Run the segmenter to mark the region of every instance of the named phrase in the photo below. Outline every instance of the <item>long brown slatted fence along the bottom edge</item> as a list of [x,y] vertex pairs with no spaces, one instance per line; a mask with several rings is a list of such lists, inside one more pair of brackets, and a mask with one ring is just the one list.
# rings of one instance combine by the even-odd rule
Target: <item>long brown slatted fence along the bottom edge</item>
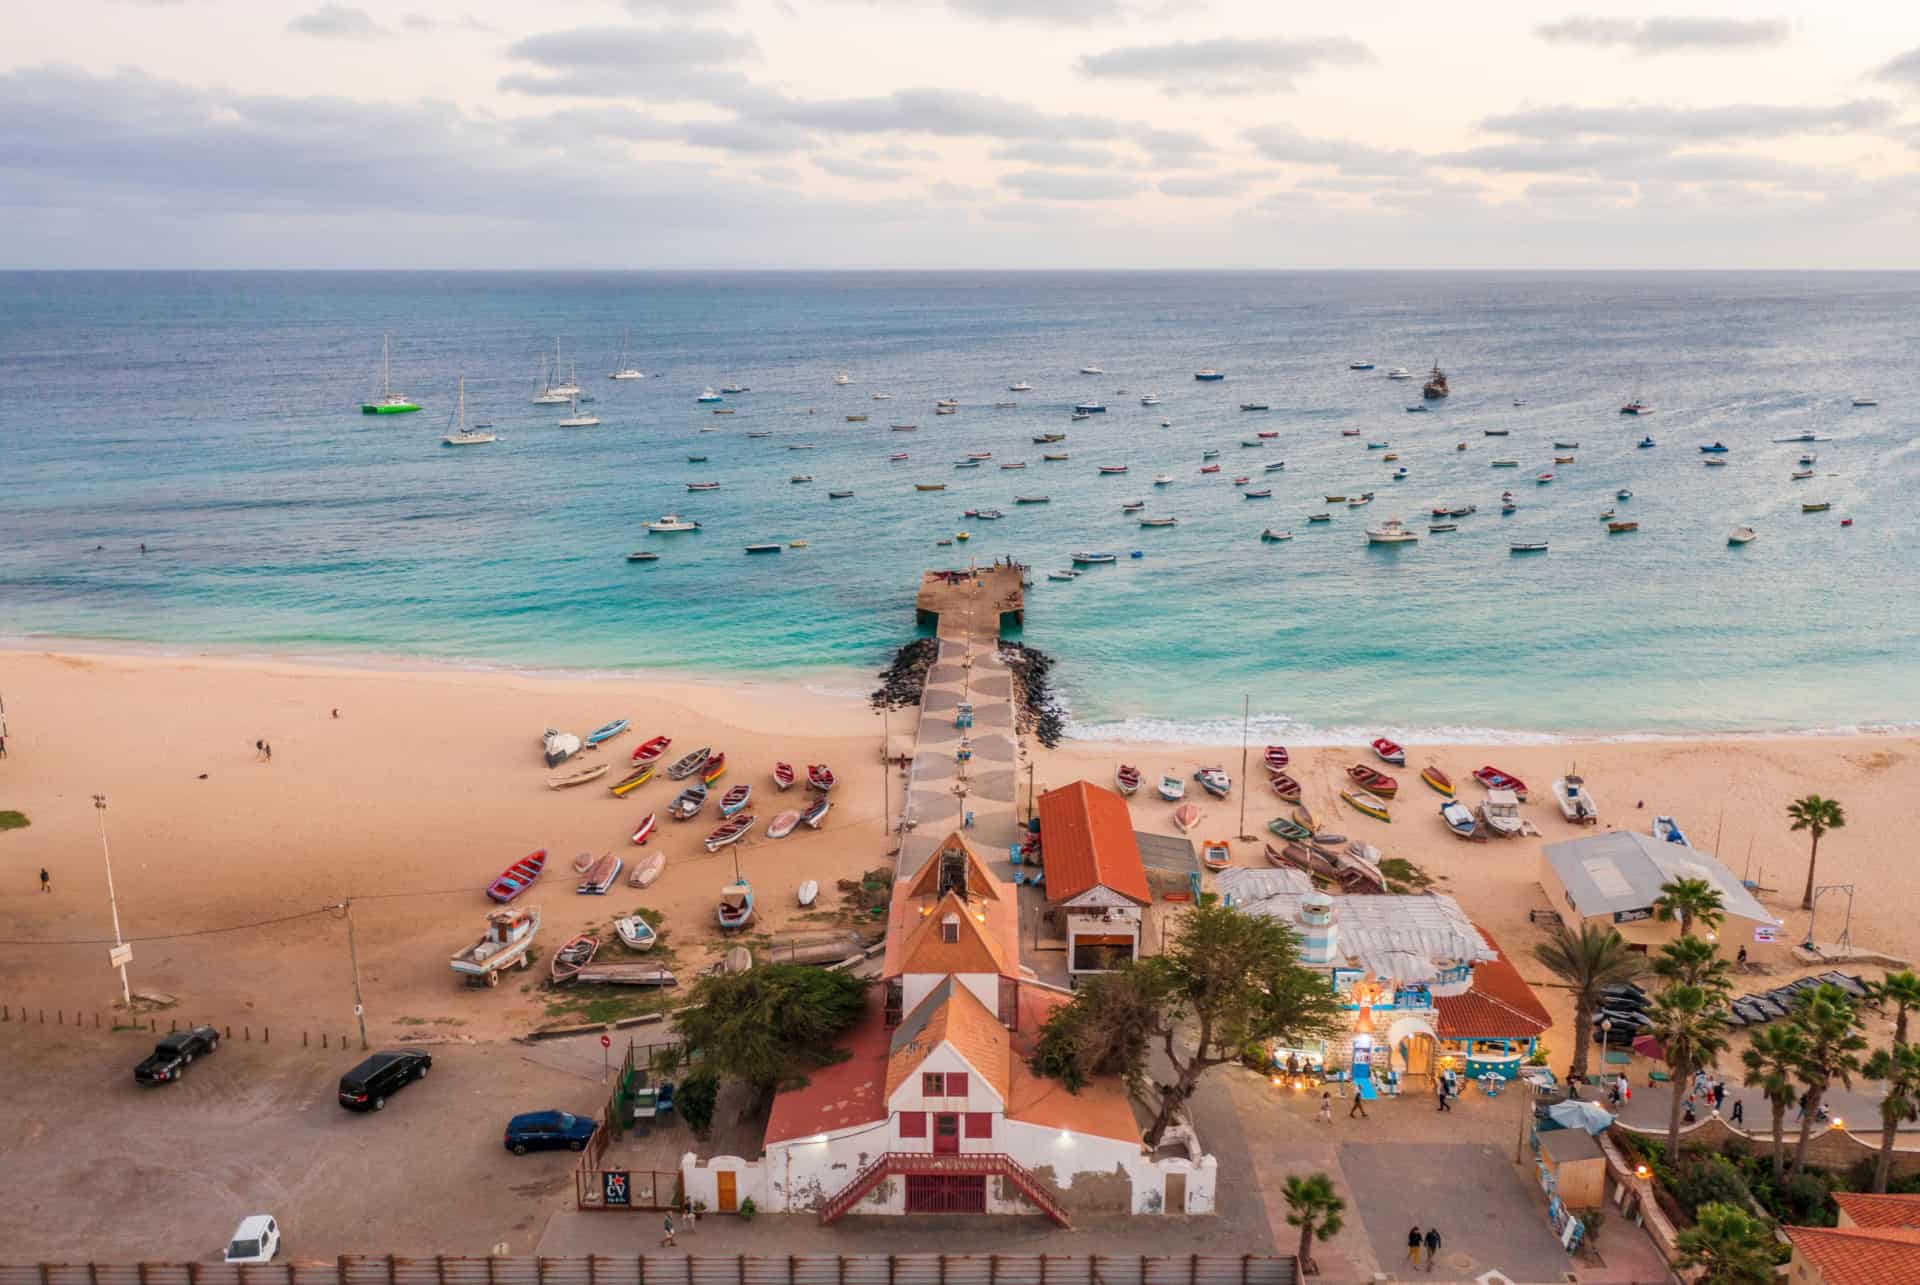
[[1277,1254],[396,1258],[0,1264],[0,1285],[1296,1285]]

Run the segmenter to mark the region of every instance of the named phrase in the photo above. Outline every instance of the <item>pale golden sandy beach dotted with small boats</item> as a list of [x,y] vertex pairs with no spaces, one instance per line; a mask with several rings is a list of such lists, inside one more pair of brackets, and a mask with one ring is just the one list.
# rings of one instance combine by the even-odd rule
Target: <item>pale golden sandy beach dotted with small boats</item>
[[[614,716],[634,732],[607,745],[626,763],[647,736],[674,738],[674,753],[726,749],[722,786],[751,782],[756,830],[801,791],[772,788],[776,759],[831,763],[839,774],[833,812],[818,834],[804,828],[739,845],[753,880],[756,932],[845,926],[835,918],[835,884],[887,864],[883,812],[897,778],[881,764],[881,720],[856,697],[797,686],[695,684],[647,678],[545,678],[511,672],[419,668],[372,672],[244,659],[182,659],[108,653],[13,651],[0,655],[12,736],[0,763],[0,809],[27,812],[31,826],[0,834],[0,991],[19,1003],[108,1008],[119,997],[102,939],[111,939],[100,834],[90,795],[109,797],[109,839],[121,924],[134,939],[132,985],[180,1001],[179,1012],[228,1022],[342,1030],[351,1022],[351,974],[338,916],[313,910],[355,897],[361,982],[371,1033],[419,1022],[457,1022],[461,1033],[516,1033],[547,1016],[541,974],[520,974],[497,991],[467,989],[447,957],[480,930],[490,903],[482,889],[513,859],[545,847],[555,864],[530,895],[543,907],[541,941],[603,928],[614,914],[649,907],[664,916],[666,945],[682,972],[724,949],[712,926],[718,887],[733,855],[707,855],[699,839],[716,822],[659,822],[647,849],[628,834],[678,789],[651,782],[614,799],[603,782],[545,788],[540,732],[584,732]],[[340,716],[334,718],[332,711]],[[895,738],[912,711],[893,716]],[[273,745],[273,763],[253,741]],[[1227,766],[1233,797],[1208,801],[1194,837],[1263,834],[1279,812],[1258,770],[1240,788],[1240,747],[1098,745],[1066,741],[1046,751],[1027,743],[1039,789],[1081,776],[1108,784],[1119,761],[1190,776],[1206,763]],[[1544,909],[1536,884],[1542,843],[1571,837],[1546,784],[1578,763],[1601,805],[1603,826],[1644,828],[1655,811],[1676,814],[1695,843],[1718,851],[1736,872],[1761,882],[1763,903],[1786,920],[1784,941],[1805,935],[1799,910],[1807,843],[1789,834],[1786,803],[1807,791],[1841,799],[1849,826],[1826,839],[1820,882],[1851,882],[1853,943],[1895,955],[1920,953],[1920,897],[1907,872],[1905,824],[1920,797],[1920,745],[1905,738],[1784,738],[1720,741],[1597,741],[1528,747],[1409,745],[1396,820],[1382,824],[1336,803],[1346,764],[1363,747],[1296,747],[1292,774],[1309,803],[1336,828],[1411,861],[1455,895],[1469,914],[1544,982],[1526,958],[1540,939],[1528,910]],[[1534,782],[1528,818],[1540,837],[1461,843],[1434,816],[1438,799],[1419,784],[1419,764],[1436,761],[1463,782],[1496,763]],[[1025,776],[1025,772],[1021,772]],[[1476,797],[1476,789],[1463,791]],[[1638,807],[1644,803],[1645,807]],[[1142,830],[1173,834],[1171,807],[1135,797]],[[626,885],[601,899],[572,891],[570,859],[580,851],[666,851],[651,889]],[[1240,864],[1263,864],[1261,839],[1235,843]],[[46,866],[54,893],[36,893]],[[795,889],[822,885],[822,907],[803,912]],[[1843,897],[1820,907],[1820,939],[1837,937]],[[298,916],[298,918],[296,918]],[[188,935],[200,933],[200,935]],[[142,941],[152,937],[167,937]],[[71,945],[23,945],[71,943]],[[612,947],[618,953],[618,947]],[[1732,949],[1732,943],[1730,943]],[[1786,945],[1755,947],[1755,962],[1793,970]],[[1542,999],[1563,1024],[1557,991]],[[1555,1056],[1555,1060],[1559,1060]]]

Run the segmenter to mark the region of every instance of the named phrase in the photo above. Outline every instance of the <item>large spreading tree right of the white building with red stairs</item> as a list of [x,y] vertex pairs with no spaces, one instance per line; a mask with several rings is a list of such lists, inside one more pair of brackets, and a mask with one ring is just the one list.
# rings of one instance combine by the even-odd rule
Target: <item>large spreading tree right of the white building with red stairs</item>
[[1181,918],[1162,955],[1083,985],[1056,1008],[1041,1028],[1033,1070],[1069,1089],[1096,1074],[1142,1085],[1148,1045],[1158,1043],[1173,1066],[1173,1083],[1146,1129],[1152,1149],[1202,1074],[1236,1062],[1250,1043],[1332,1035],[1344,1030],[1342,1018],[1327,978],[1300,964],[1286,924],[1202,905]]

